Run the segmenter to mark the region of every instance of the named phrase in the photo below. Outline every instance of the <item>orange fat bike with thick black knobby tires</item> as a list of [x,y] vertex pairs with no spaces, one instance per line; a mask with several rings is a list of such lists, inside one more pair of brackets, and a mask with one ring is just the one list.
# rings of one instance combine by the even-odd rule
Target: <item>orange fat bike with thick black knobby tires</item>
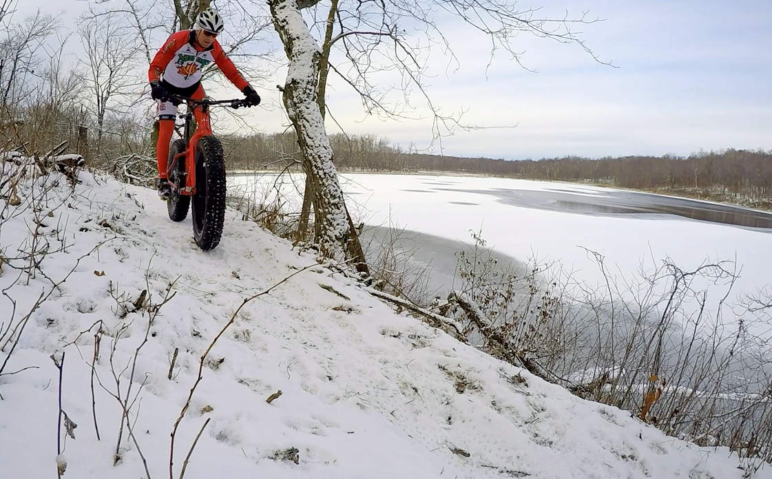
[[212,122],[208,115],[193,132],[193,110],[200,106],[204,113],[208,113],[213,105],[240,108],[252,104],[245,99],[194,100],[177,95],[170,98],[188,103],[188,111],[179,115],[185,118],[184,137],[174,140],[169,147],[166,172],[171,187],[167,203],[169,218],[171,221],[182,221],[191,209],[193,238],[199,248],[209,251],[219,244],[225,220],[225,157],[222,143],[212,134]]

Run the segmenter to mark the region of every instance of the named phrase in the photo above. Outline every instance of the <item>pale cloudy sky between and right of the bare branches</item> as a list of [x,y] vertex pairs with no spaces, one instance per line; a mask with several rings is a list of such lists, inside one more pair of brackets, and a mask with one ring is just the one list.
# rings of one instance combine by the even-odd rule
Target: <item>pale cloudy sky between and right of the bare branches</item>
[[[64,10],[64,19],[86,5],[56,2],[55,12],[47,0],[21,3],[24,10],[37,5],[52,13]],[[557,15],[567,9],[606,19],[587,25],[583,38],[618,68],[594,62],[576,46],[520,36],[527,50],[523,60],[538,73],[501,57],[486,75],[485,39],[456,22],[441,23],[461,68],[446,73],[445,59],[435,56],[436,76],[429,89],[435,103],[447,111],[466,110],[466,123],[517,124],[459,132],[443,140],[445,154],[535,159],[687,155],[730,147],[772,150],[770,0],[549,0],[532,5],[546,5],[547,13]],[[283,74],[279,69],[276,78],[256,85],[266,103],[278,104],[274,85]],[[349,133],[375,133],[403,147],[425,147],[431,141],[425,121],[365,117],[356,96],[340,83],[330,86],[328,104]],[[286,122],[278,108],[252,113],[251,119],[266,131]],[[328,130],[337,131],[337,126],[330,122]]]

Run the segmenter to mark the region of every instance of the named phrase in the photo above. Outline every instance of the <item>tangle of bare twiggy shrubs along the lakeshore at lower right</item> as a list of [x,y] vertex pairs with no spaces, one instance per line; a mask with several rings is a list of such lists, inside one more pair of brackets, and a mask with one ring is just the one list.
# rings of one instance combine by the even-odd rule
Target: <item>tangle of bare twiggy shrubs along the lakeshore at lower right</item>
[[469,342],[672,436],[728,446],[749,471],[772,461],[770,349],[748,329],[772,321],[764,296],[744,309],[729,304],[732,261],[686,270],[666,259],[638,278],[618,278],[588,250],[605,280],[590,288],[556,265],[501,272],[473,238],[443,309]]

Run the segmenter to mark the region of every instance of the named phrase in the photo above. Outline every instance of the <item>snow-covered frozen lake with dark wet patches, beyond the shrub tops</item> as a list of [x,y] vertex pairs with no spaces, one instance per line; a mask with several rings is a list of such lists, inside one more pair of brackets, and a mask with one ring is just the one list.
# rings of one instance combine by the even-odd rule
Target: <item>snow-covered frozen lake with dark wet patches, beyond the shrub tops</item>
[[[576,278],[600,282],[584,248],[604,255],[612,274],[651,270],[671,259],[683,269],[732,260],[740,278],[735,292],[770,284],[772,214],[705,201],[577,184],[494,177],[344,174],[351,214],[366,224],[416,231],[432,239],[422,258],[435,258],[438,276],[455,265],[459,241],[479,231],[496,251],[524,261],[560,261]],[[231,191],[256,197],[282,191],[300,210],[303,175],[230,177]],[[442,238],[448,242],[445,249]],[[415,241],[421,248],[421,241]],[[446,258],[440,259],[440,256]],[[449,256],[449,258],[447,258]]]

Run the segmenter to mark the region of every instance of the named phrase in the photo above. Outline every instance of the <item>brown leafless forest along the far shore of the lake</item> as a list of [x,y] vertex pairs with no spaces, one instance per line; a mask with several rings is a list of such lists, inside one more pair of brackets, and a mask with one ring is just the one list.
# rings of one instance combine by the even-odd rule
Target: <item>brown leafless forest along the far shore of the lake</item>
[[[373,135],[330,137],[340,171],[437,171],[527,180],[560,180],[672,192],[772,209],[772,151],[722,150],[689,157],[562,157],[541,160],[447,157],[408,153]],[[282,170],[299,160],[291,134],[231,137],[230,170]]]

